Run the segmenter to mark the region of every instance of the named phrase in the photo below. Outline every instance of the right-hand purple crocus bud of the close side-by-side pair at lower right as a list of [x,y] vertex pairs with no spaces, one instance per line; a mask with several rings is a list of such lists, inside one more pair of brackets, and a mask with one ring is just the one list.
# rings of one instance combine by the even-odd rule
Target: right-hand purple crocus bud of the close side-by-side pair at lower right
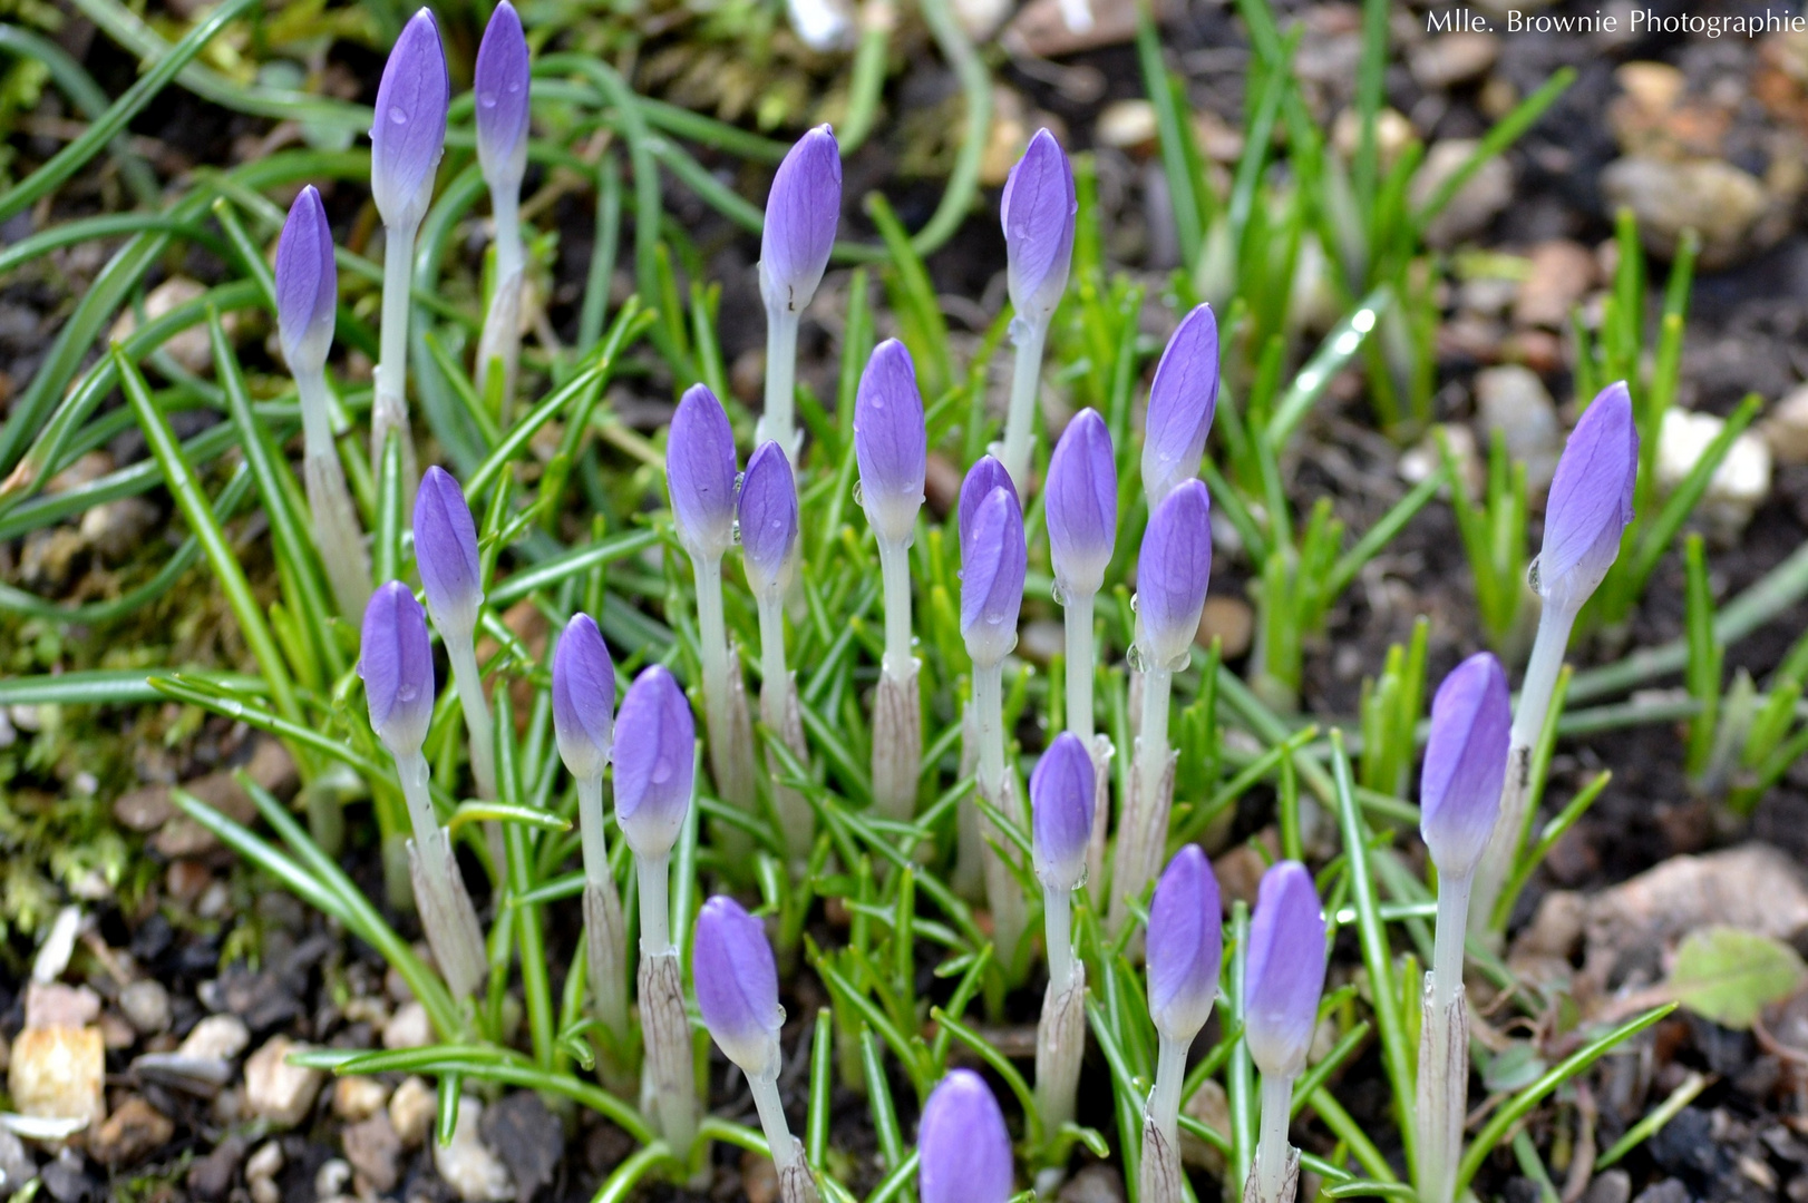
[[1244,1039],[1257,1069],[1287,1078],[1305,1068],[1325,990],[1325,916],[1313,874],[1284,860],[1262,874],[1244,965]]

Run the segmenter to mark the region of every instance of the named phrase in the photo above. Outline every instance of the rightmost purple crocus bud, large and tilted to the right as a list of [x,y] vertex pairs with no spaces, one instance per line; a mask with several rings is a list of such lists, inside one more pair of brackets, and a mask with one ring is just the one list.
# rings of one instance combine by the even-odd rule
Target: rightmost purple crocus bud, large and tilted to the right
[[1551,605],[1578,611],[1620,555],[1638,482],[1638,426],[1625,381],[1600,390],[1569,432],[1544,504],[1544,549],[1533,587]]

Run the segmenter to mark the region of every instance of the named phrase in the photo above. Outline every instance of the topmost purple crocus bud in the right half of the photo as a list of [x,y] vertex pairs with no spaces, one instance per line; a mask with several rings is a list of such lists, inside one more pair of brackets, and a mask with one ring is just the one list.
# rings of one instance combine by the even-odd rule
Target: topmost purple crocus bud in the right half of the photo
[[1036,130],[1029,150],[1005,177],[998,217],[1005,228],[1005,282],[1011,307],[1032,325],[1045,325],[1067,291],[1074,256],[1074,168],[1049,130]]

